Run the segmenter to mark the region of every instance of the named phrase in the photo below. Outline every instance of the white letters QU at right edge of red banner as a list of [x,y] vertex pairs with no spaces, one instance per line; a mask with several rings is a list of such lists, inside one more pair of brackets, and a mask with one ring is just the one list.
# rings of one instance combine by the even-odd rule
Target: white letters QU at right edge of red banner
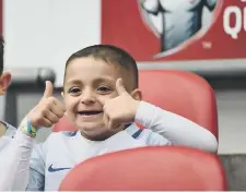
[[[241,1],[246,2],[246,0]],[[233,14],[235,15],[235,24],[232,26],[231,16]],[[223,28],[233,39],[238,38],[238,34],[242,29],[246,32],[246,8],[242,11],[241,8],[236,5],[227,7],[223,14]]]

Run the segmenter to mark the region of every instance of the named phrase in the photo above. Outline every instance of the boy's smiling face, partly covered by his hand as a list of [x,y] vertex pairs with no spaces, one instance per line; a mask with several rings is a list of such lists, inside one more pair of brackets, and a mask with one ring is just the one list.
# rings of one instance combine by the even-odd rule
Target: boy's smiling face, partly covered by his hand
[[120,70],[93,57],[70,61],[65,77],[67,116],[87,137],[114,134],[104,124],[104,103],[118,96],[116,81]]

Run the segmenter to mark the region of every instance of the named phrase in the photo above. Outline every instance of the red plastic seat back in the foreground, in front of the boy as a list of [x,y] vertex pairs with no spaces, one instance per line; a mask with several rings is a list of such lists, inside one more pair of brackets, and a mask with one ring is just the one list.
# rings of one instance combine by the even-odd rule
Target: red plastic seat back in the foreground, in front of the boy
[[186,147],[140,147],[81,163],[60,191],[223,191],[218,156]]

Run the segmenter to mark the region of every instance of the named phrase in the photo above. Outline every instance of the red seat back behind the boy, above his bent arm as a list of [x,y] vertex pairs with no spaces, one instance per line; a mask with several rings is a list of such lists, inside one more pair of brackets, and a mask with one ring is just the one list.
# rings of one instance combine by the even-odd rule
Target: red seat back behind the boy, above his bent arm
[[141,70],[139,87],[143,100],[192,120],[218,139],[215,95],[204,79],[178,70]]

